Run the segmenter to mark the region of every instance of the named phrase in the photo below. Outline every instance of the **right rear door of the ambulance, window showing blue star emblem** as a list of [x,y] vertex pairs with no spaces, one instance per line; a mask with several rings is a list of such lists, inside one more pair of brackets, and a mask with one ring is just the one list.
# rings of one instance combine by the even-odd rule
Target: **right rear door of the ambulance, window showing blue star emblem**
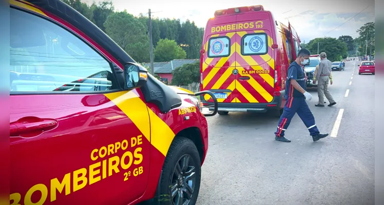
[[237,16],[236,102],[271,103],[274,92],[275,55],[272,49],[275,26],[270,12]]

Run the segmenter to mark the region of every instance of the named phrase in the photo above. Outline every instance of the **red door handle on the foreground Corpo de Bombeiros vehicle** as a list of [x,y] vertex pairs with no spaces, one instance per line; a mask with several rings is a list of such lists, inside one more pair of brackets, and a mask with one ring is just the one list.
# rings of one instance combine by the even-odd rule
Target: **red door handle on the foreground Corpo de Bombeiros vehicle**
[[57,127],[54,119],[41,119],[38,117],[21,118],[9,125],[10,136],[33,137]]

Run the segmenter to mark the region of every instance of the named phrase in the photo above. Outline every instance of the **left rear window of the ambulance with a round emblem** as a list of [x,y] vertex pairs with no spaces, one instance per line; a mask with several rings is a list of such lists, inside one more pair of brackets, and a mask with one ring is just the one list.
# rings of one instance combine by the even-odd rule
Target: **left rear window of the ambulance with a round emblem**
[[209,39],[208,57],[227,57],[229,53],[231,53],[231,39],[227,36]]

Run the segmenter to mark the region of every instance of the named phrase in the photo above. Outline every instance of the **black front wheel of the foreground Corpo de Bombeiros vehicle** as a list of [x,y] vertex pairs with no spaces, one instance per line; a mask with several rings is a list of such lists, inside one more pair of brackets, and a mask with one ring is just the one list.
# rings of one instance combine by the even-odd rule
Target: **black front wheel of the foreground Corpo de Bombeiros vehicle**
[[[185,168],[183,167],[183,160],[189,158],[189,166]],[[179,175],[176,175],[176,168],[179,167],[180,170],[184,171],[184,173],[179,172]],[[194,167],[192,170],[190,167]],[[194,176],[194,177],[192,177]],[[181,178],[184,177],[184,178]],[[190,187],[185,179],[194,180],[192,187]],[[161,205],[173,205],[178,204],[179,192],[180,190],[183,192],[184,198],[188,196],[186,193],[188,188],[192,190],[192,194],[188,199],[189,204],[195,204],[197,201],[197,197],[199,195],[200,189],[200,180],[201,180],[201,161],[199,152],[194,144],[188,138],[185,137],[177,137],[172,142],[167,156],[164,160],[163,165],[163,174],[161,176],[161,185],[160,185],[160,204]],[[190,182],[190,181],[188,181]],[[183,187],[181,187],[181,185]],[[172,198],[172,190],[175,190],[175,196]],[[183,199],[185,202],[185,199]]]

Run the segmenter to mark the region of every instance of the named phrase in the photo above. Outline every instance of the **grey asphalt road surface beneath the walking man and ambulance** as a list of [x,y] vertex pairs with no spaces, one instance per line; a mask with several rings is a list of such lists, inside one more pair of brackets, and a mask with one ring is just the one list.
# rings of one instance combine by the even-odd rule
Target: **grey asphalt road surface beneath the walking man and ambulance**
[[375,76],[358,75],[355,64],[333,72],[329,90],[337,105],[315,107],[317,90],[309,91],[321,133],[331,134],[343,109],[336,137],[313,142],[297,115],[285,132],[290,143],[274,140],[278,118],[269,113],[207,117],[197,204],[374,204]]

